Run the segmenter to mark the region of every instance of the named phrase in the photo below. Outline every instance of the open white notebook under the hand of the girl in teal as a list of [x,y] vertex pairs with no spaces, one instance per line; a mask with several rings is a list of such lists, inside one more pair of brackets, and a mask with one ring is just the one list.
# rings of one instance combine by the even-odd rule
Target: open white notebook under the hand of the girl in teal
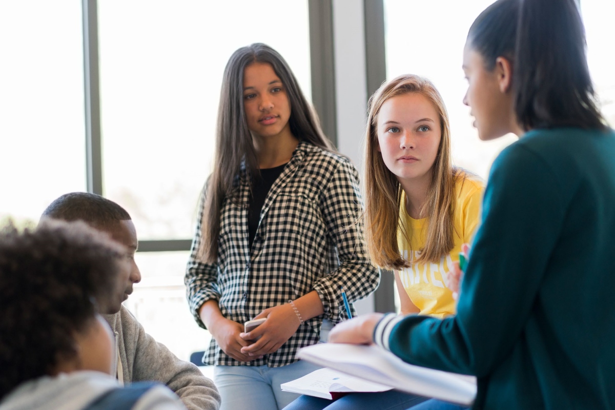
[[319,343],[300,349],[297,356],[402,392],[464,406],[476,397],[476,377],[410,365],[376,345]]

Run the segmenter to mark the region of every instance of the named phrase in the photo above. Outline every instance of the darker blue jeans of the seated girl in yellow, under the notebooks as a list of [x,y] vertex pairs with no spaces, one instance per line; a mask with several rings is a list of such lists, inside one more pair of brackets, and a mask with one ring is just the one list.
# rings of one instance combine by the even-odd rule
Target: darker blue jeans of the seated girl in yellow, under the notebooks
[[425,397],[389,390],[375,393],[351,393],[331,401],[313,396],[301,396],[284,410],[406,410],[427,400]]

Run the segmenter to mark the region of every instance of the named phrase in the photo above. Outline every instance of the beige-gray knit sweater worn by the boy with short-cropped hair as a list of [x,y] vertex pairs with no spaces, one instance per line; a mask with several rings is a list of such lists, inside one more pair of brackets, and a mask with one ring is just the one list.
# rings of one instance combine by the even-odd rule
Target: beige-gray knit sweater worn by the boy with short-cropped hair
[[[164,344],[145,333],[143,326],[125,310],[122,328],[128,363],[132,363],[132,381],[156,381],[167,385],[188,410],[217,410],[220,394],[213,381],[197,366],[178,359]],[[130,340],[132,339],[132,340]]]

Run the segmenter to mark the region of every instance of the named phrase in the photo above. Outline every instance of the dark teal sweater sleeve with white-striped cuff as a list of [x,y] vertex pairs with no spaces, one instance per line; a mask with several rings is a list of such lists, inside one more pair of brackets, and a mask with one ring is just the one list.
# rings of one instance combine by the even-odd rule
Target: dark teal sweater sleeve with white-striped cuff
[[489,374],[522,333],[565,215],[562,187],[544,160],[513,144],[496,159],[461,285],[458,314],[388,320],[391,352],[408,363]]

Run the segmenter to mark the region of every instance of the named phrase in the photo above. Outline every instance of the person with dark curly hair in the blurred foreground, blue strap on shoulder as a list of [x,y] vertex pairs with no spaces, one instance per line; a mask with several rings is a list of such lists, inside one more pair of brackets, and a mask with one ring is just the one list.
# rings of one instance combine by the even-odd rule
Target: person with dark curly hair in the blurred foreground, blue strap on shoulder
[[124,247],[84,223],[0,231],[0,409],[185,409],[163,385],[122,389],[111,376],[99,312],[129,274]]

